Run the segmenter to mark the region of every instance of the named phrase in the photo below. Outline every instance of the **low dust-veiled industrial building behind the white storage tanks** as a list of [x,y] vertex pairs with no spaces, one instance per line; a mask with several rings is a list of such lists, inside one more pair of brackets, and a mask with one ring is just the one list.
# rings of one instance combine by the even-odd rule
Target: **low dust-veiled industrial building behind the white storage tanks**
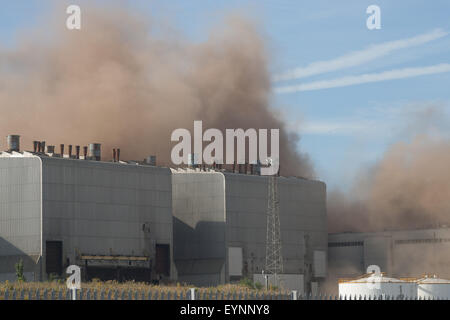
[[340,278],[365,274],[371,265],[395,278],[448,279],[450,228],[328,235],[328,291],[337,293]]

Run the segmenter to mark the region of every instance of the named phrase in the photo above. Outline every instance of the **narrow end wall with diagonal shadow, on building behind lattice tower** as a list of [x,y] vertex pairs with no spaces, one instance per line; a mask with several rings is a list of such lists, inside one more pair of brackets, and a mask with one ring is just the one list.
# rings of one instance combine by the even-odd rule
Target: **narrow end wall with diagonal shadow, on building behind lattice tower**
[[215,285],[225,279],[225,180],[218,172],[173,170],[174,260],[178,280]]

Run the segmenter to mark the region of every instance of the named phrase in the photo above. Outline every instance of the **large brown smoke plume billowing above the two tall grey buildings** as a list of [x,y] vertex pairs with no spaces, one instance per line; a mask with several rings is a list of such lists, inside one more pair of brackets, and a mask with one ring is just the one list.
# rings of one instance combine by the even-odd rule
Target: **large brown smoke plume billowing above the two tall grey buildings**
[[[202,43],[152,24],[125,7],[82,6],[82,30],[64,9],[40,33],[0,48],[1,135],[47,144],[99,142],[123,158],[170,164],[174,129],[279,128],[283,174],[313,175],[271,109],[268,53],[258,28],[232,17]],[[51,39],[48,35],[52,35]]]

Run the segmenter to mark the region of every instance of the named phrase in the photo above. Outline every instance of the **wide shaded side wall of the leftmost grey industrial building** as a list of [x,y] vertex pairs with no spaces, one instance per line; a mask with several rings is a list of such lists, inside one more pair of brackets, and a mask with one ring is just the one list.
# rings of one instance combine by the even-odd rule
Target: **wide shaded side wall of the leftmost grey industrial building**
[[169,169],[42,160],[43,241],[63,241],[64,261],[77,263],[78,253],[153,257],[156,243],[173,250]]

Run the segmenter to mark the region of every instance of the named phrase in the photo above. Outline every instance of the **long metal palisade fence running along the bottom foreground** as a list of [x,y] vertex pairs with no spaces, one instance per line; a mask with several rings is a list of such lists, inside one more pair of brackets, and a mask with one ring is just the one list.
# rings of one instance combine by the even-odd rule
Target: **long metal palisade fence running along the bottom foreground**
[[297,295],[292,293],[269,292],[207,292],[194,291],[162,291],[162,290],[98,290],[81,289],[76,292],[76,299],[72,299],[70,290],[29,290],[6,289],[0,290],[0,300],[441,300],[429,297],[405,297],[405,296],[337,296],[337,295]]

